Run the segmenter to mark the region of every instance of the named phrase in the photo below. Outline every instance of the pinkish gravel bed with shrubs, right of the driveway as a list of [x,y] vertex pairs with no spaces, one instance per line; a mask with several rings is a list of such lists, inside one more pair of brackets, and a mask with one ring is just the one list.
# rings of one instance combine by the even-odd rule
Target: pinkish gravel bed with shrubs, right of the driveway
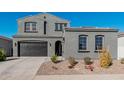
[[76,60],[70,57],[66,60],[58,60],[55,55],[51,61],[44,62],[37,75],[80,75],[80,74],[124,74],[124,59],[113,60],[107,49],[103,49],[99,59],[90,57]]

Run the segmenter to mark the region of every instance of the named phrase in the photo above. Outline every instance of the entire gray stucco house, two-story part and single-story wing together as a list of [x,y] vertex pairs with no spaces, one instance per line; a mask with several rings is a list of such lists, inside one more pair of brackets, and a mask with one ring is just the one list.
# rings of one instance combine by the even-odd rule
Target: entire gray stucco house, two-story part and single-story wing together
[[43,13],[18,19],[13,36],[14,56],[64,56],[98,58],[98,50],[109,48],[117,58],[117,29],[70,27],[70,22]]

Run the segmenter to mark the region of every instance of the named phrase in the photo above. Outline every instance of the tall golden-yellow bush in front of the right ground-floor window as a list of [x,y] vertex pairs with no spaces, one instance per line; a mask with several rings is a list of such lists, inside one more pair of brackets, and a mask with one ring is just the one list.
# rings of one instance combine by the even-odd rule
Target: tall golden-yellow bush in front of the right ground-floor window
[[107,49],[102,49],[100,53],[100,66],[103,68],[108,68],[112,64],[112,58]]

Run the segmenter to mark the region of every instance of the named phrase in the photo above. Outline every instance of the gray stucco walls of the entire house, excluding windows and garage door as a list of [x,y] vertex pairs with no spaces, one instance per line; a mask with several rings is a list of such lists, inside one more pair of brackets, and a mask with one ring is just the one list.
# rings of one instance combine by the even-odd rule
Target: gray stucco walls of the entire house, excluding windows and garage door
[[[46,34],[44,34],[44,21],[47,22]],[[25,22],[37,22],[37,32],[25,32]],[[55,30],[55,23],[66,23],[67,27],[63,31]],[[47,42],[47,56],[55,54],[55,44],[61,41],[62,56],[68,58],[98,58],[98,52],[95,52],[95,35],[104,35],[104,47],[109,48],[112,58],[117,58],[117,29],[109,28],[71,28],[70,22],[65,19],[43,13],[35,16],[28,16],[18,19],[18,32],[13,36],[13,55],[18,56],[18,42],[33,41]],[[79,35],[87,35],[87,51],[79,51]]]

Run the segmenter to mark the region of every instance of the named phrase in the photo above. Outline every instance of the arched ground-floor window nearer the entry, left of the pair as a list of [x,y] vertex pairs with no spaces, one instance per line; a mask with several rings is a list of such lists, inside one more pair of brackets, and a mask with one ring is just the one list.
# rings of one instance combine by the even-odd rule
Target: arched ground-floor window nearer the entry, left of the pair
[[87,49],[87,35],[79,36],[79,50]]

